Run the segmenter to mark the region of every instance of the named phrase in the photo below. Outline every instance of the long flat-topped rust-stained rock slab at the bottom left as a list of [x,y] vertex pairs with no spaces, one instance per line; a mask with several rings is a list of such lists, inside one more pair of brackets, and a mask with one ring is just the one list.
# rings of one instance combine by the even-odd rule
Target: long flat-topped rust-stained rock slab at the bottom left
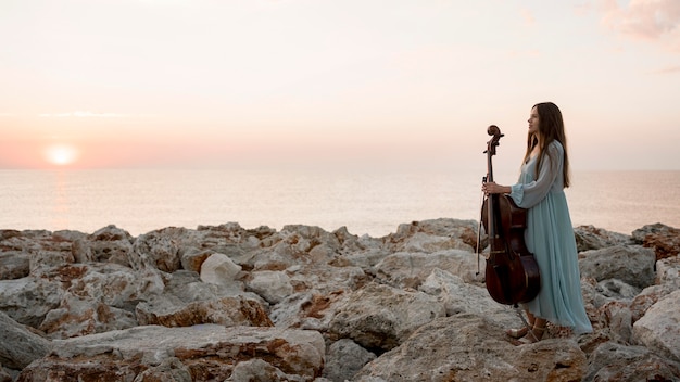
[[[324,339],[318,332],[277,328],[137,327],[68,340],[54,340],[49,356],[34,361],[21,374],[23,382],[42,382],[48,375],[74,380],[133,380],[163,365],[186,369],[192,381],[224,381],[242,361],[262,359],[284,372],[312,381],[324,365]],[[176,358],[179,367],[168,358]]]

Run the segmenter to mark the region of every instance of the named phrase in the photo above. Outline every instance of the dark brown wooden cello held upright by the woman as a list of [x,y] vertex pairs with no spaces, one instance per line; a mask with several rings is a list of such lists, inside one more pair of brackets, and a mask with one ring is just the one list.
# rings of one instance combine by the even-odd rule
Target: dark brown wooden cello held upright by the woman
[[[504,135],[491,125],[487,132],[492,138],[487,142],[487,177],[493,181],[491,157],[495,155],[499,140]],[[505,194],[486,196],[480,225],[489,238],[489,257],[486,266],[487,291],[495,302],[505,305],[528,303],[539,293],[541,278],[539,266],[524,240],[527,228],[527,211],[520,208]],[[479,246],[478,246],[479,251]]]

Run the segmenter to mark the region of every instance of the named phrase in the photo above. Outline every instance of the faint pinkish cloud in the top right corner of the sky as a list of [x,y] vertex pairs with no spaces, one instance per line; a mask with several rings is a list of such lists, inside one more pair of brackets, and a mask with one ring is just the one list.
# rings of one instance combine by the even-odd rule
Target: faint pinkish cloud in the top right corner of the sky
[[602,5],[608,28],[680,53],[680,1],[630,0],[620,7],[617,0],[604,0]]

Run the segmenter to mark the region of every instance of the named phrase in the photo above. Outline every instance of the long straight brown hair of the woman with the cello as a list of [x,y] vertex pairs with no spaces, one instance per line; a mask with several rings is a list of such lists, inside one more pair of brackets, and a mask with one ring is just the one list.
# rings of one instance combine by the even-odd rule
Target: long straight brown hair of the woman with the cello
[[[539,157],[536,166],[537,177],[538,171],[541,168],[541,162],[543,155],[550,153],[545,150],[553,141],[562,143],[564,148],[564,167],[562,169],[562,178],[564,187],[567,188],[570,184],[569,181],[569,156],[567,155],[567,136],[564,130],[564,120],[562,119],[562,112],[556,104],[552,102],[541,102],[533,105],[539,113],[539,133],[541,135]],[[532,109],[533,109],[532,107]],[[527,137],[527,153],[525,154],[525,162],[531,155],[533,148],[539,144],[539,139],[536,133],[529,132]],[[555,162],[553,162],[555,163]]]

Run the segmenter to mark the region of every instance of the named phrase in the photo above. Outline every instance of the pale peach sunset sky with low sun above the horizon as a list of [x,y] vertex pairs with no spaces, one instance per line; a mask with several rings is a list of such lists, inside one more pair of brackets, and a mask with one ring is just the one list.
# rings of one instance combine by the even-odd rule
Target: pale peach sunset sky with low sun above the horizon
[[679,0],[2,0],[0,168],[680,169]]

